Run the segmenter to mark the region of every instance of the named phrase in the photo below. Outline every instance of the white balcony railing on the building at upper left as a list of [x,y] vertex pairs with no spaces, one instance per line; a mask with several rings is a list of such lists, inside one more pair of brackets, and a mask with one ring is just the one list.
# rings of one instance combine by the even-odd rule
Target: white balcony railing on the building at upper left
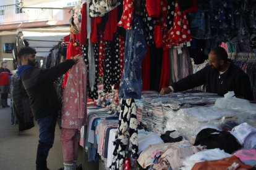
[[20,9],[19,6],[0,6],[0,25],[53,20],[53,9]]

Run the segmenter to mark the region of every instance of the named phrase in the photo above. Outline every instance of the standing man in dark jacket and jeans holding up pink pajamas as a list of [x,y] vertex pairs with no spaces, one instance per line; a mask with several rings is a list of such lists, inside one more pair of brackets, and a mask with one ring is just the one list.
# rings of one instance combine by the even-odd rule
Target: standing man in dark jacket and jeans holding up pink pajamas
[[49,149],[53,147],[54,131],[59,110],[54,79],[66,73],[79,59],[79,55],[48,69],[35,68],[36,51],[23,47],[18,53],[22,65],[17,76],[22,80],[30,100],[30,107],[39,126],[39,144],[36,153],[36,169],[46,170]]

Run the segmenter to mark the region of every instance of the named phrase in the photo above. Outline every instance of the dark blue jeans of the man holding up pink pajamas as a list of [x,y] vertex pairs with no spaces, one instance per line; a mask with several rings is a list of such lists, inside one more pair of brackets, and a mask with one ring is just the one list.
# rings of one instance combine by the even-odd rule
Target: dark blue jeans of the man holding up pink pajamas
[[47,156],[54,142],[54,132],[57,121],[57,114],[37,119],[39,126],[39,144],[36,153],[36,169],[47,169]]

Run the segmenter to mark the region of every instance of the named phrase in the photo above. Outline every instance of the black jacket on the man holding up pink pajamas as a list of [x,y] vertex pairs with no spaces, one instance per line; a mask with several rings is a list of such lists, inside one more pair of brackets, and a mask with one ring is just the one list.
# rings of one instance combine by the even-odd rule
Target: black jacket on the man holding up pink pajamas
[[74,64],[74,60],[66,60],[45,70],[33,67],[24,71],[22,83],[29,96],[30,107],[35,119],[57,114],[60,103],[53,81],[66,73]]

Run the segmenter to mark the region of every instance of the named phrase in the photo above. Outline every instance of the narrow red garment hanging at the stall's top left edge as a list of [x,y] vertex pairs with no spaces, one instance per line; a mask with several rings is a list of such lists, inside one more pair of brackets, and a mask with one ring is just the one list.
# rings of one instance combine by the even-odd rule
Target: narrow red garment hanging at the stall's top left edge
[[81,20],[81,28],[80,28],[80,34],[79,34],[79,42],[80,45],[85,45],[86,39],[87,39],[87,14],[86,14],[86,7],[87,3],[83,3],[81,14],[82,14],[82,20]]

